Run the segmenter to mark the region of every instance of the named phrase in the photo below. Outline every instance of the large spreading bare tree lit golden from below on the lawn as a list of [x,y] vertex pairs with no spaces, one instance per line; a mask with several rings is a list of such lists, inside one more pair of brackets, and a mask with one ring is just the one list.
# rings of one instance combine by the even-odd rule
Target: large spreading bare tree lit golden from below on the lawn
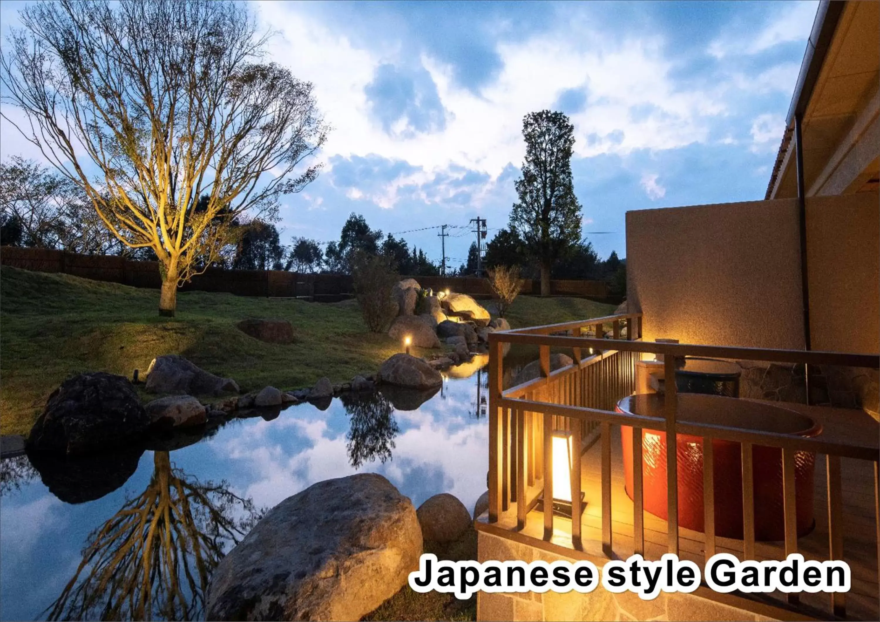
[[318,175],[303,165],[327,132],[312,84],[262,62],[268,35],[242,4],[61,0],[19,14],[3,101],[115,238],[156,253],[160,314],[236,216],[273,220],[279,196]]

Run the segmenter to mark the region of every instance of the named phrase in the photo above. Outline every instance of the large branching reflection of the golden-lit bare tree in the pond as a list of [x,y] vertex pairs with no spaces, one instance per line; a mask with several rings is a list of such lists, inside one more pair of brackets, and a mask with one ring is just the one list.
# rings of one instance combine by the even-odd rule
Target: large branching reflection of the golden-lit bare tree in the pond
[[167,451],[154,452],[153,461],[146,490],[89,534],[83,560],[49,607],[49,619],[202,616],[211,571],[259,514],[225,481],[187,478]]

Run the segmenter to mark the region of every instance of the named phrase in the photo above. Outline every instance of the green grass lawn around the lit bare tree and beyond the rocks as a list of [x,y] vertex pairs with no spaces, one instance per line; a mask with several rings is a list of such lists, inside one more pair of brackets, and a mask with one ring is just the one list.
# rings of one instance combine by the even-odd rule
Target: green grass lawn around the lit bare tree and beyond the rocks
[[[373,373],[400,344],[369,333],[353,301],[307,303],[208,292],[178,295],[176,318],[158,316],[158,290],[68,274],[0,269],[0,432],[26,435],[64,378],[105,370],[131,377],[158,355],[180,354],[242,391],[311,386]],[[514,327],[591,318],[612,305],[580,298],[521,296]],[[296,342],[268,344],[236,328],[245,318],[283,318]],[[425,354],[414,348],[413,354]]]

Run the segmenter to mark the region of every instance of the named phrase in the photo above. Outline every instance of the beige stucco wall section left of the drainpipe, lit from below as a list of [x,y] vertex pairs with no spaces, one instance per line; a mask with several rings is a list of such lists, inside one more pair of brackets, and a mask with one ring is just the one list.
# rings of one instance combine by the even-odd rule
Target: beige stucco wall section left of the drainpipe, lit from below
[[803,348],[796,199],[627,212],[646,340]]

